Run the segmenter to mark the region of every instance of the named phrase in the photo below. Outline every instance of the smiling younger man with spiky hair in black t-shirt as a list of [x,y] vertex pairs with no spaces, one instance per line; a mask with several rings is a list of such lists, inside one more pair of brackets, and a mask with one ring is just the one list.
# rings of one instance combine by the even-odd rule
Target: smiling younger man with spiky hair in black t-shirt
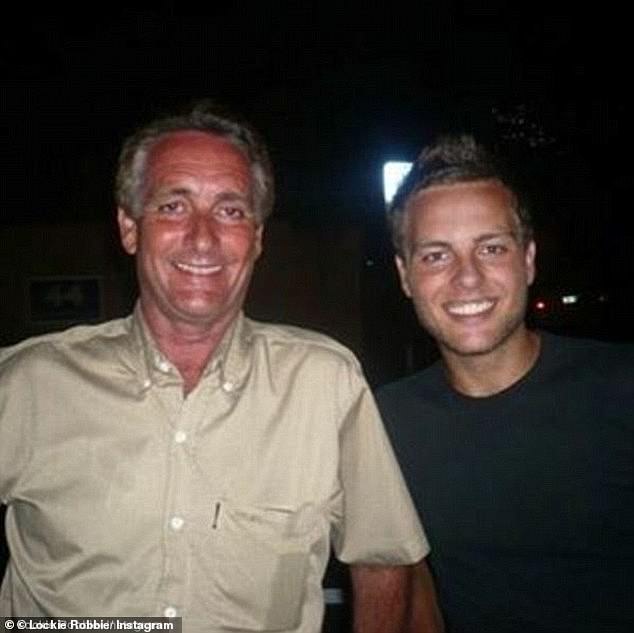
[[425,148],[389,219],[442,358],[379,403],[448,629],[631,631],[634,349],[526,327],[531,219],[473,138]]

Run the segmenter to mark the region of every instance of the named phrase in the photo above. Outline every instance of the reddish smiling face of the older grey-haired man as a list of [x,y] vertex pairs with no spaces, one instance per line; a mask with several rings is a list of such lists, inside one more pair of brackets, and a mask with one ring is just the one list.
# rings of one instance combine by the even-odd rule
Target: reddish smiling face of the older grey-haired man
[[154,329],[226,327],[242,308],[262,226],[251,169],[221,137],[169,134],[150,151],[138,219],[119,210],[136,254],[141,305]]

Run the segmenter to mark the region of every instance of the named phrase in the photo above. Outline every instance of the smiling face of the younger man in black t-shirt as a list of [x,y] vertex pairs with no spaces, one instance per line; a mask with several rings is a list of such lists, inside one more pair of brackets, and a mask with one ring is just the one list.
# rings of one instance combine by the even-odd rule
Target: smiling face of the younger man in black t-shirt
[[401,285],[445,357],[487,354],[523,335],[535,244],[514,197],[484,180],[430,187],[407,205]]

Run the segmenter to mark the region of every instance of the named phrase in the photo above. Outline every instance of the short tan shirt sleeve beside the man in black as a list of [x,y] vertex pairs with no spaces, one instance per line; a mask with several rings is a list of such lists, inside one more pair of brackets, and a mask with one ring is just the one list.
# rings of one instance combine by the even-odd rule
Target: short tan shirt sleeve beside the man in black
[[333,547],[349,564],[407,565],[429,551],[374,398],[360,369],[339,381],[343,514]]

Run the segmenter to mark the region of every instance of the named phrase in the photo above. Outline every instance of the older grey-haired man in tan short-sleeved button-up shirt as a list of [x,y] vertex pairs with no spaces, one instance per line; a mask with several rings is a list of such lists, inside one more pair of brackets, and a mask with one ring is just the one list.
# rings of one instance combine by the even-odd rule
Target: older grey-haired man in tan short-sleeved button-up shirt
[[357,629],[401,626],[427,545],[357,361],[241,312],[272,198],[256,133],[207,104],[125,143],[134,314],[3,353],[2,615],[315,632],[332,539]]

